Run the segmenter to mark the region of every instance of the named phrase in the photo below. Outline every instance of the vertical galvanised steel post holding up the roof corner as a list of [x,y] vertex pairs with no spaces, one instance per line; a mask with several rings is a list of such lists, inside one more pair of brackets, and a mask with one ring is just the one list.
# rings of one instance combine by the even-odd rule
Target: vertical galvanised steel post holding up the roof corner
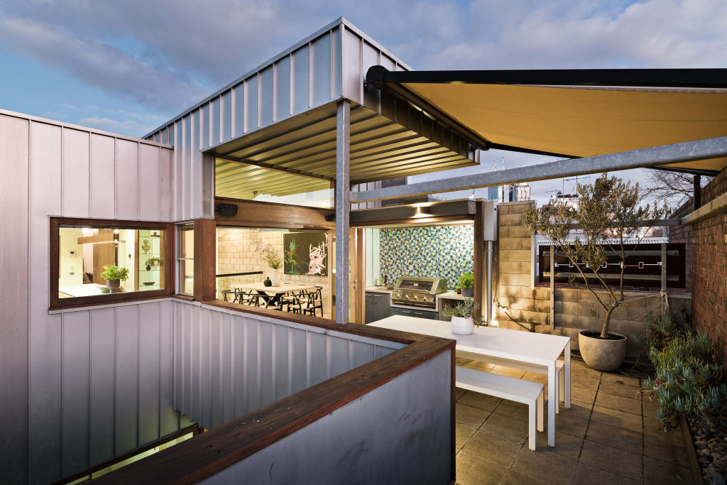
[[348,228],[350,197],[351,105],[341,100],[336,119],[336,323],[348,322]]

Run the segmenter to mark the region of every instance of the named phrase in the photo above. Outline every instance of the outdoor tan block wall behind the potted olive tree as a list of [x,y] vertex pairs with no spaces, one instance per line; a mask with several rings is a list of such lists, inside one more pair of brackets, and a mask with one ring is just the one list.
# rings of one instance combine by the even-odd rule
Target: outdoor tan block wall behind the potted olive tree
[[[505,308],[498,308],[495,318],[501,328],[566,335],[571,337],[571,348],[578,350],[579,332],[600,330],[606,312],[585,289],[556,288],[555,326],[551,328],[550,287],[534,286],[534,238],[523,220],[523,212],[533,204],[533,201],[520,201],[497,206],[499,269],[495,298]],[[727,283],[723,287],[727,288]],[[605,290],[598,294],[603,300],[610,299]],[[641,339],[646,332],[646,319],[649,312],[661,311],[661,296],[653,292],[625,294],[632,301],[614,310],[609,331],[627,335],[629,355],[635,356],[645,350]],[[670,310],[691,312],[691,295],[669,294],[668,298]],[[593,316],[593,310],[597,317]]]

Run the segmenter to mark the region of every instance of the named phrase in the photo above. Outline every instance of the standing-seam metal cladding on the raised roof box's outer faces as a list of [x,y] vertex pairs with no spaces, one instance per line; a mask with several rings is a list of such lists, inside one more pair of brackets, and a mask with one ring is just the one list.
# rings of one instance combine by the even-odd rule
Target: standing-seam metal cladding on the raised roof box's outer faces
[[366,71],[377,64],[409,69],[340,19],[148,135],[177,148],[174,220],[214,217],[212,201],[203,199],[214,192],[214,160],[204,160],[202,151],[341,98],[380,113],[379,91],[364,95]]

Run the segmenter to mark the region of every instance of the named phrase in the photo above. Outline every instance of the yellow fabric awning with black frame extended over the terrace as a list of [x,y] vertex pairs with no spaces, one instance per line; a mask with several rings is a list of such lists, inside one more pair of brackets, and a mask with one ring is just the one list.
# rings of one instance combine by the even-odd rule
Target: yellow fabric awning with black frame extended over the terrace
[[[566,157],[727,135],[727,69],[387,71],[366,81],[486,148]],[[484,147],[483,147],[484,148]],[[727,159],[670,167],[718,172]]]

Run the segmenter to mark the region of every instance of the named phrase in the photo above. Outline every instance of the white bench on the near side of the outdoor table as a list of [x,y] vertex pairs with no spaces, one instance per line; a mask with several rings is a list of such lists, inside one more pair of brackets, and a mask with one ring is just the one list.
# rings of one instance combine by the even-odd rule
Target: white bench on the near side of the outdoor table
[[491,374],[478,369],[457,366],[457,387],[474,390],[496,398],[507,399],[528,405],[528,447],[535,449],[535,428],[543,430],[543,389],[542,382]]

